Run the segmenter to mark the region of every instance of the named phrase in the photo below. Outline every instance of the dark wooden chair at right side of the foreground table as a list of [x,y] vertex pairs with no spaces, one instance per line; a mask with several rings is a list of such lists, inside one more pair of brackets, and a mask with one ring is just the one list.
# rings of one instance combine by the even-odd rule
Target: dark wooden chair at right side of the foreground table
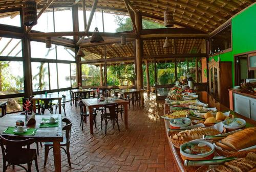
[[[63,141],[60,142],[60,148],[63,149],[65,151],[65,153],[67,154],[69,166],[71,167],[69,147],[70,147],[70,137],[71,137],[72,122],[68,118],[63,118],[62,122],[66,122],[66,125],[62,128],[62,130],[65,131],[65,137],[63,137]],[[66,149],[63,148],[63,146],[66,146]],[[49,151],[52,148],[53,148],[53,143],[52,142],[46,142],[45,143],[45,162],[44,162],[44,167],[46,167],[47,157],[48,157]]]

